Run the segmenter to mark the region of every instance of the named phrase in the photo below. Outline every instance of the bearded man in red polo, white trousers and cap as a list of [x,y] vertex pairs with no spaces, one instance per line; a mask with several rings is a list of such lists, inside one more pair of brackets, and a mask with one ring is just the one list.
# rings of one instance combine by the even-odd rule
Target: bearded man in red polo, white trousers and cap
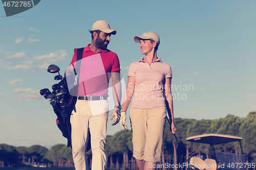
[[[120,119],[121,83],[120,64],[117,55],[106,47],[110,36],[116,34],[109,23],[98,20],[93,24],[92,42],[83,48],[82,59],[77,61],[77,49],[70,66],[66,69],[69,90],[78,84],[75,109],[70,122],[72,126],[72,154],[76,170],[89,169],[86,148],[88,133],[91,133],[92,170],[104,169],[106,163],[105,137],[108,122],[108,88],[112,78],[115,108],[111,114],[112,125]],[[77,76],[76,76],[77,75]],[[76,78],[77,77],[77,78]],[[73,89],[72,89],[73,88]]]

